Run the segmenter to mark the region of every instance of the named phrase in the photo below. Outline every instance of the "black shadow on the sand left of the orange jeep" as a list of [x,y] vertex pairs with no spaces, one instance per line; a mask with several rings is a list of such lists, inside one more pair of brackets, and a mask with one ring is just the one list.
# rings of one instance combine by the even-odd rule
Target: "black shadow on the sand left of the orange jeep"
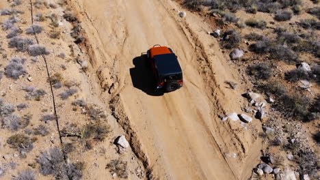
[[147,56],[141,55],[133,59],[135,67],[130,69],[130,75],[133,87],[144,91],[152,96],[163,95],[163,92],[155,92],[155,78],[150,67],[147,65]]

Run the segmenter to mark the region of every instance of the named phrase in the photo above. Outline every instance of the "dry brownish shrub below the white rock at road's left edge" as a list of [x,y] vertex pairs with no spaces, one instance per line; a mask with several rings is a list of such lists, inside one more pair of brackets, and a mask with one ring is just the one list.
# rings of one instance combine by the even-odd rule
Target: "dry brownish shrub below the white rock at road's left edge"
[[118,177],[126,179],[129,175],[126,169],[126,164],[127,162],[122,162],[121,160],[111,160],[111,162],[107,164],[106,168],[109,169],[111,174],[116,173]]

